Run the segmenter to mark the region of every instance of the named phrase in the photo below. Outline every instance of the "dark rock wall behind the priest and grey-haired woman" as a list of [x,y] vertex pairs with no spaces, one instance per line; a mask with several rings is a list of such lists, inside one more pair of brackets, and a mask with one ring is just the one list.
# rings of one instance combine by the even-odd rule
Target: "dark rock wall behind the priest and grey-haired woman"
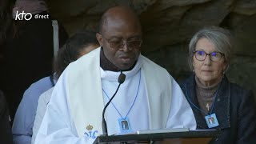
[[204,26],[222,26],[237,38],[236,58],[227,76],[256,96],[256,0],[46,0],[69,34],[97,29],[111,6],[132,7],[143,28],[142,54],[165,67],[178,81],[190,75],[188,42]]

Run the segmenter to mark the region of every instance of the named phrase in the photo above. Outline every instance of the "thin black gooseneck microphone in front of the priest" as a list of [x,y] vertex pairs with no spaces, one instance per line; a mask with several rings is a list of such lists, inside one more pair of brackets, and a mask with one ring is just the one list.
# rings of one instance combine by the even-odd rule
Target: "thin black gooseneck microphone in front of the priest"
[[112,99],[114,98],[115,94],[117,94],[118,92],[118,89],[120,87],[120,85],[125,82],[126,80],[126,74],[122,74],[122,71],[121,71],[121,74],[119,74],[118,76],[118,82],[119,82],[119,85],[118,85],[118,88],[117,90],[115,90],[113,96],[110,98],[110,101],[106,103],[106,106],[104,106],[104,109],[102,111],[102,132],[103,132],[103,136],[107,136],[107,128],[106,128],[106,120],[104,118],[104,114],[105,114],[105,111],[106,111],[106,107],[110,105],[110,102],[112,101]]

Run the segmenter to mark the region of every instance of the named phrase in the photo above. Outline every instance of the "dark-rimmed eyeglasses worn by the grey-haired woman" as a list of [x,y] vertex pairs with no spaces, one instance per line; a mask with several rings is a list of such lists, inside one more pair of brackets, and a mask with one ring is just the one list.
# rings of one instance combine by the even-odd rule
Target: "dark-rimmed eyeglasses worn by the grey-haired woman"
[[213,62],[218,62],[222,59],[222,56],[224,54],[219,53],[219,52],[212,52],[210,54],[207,54],[205,51],[203,50],[196,50],[194,51],[194,56],[198,61],[204,61],[207,57],[207,55],[210,56],[210,60]]

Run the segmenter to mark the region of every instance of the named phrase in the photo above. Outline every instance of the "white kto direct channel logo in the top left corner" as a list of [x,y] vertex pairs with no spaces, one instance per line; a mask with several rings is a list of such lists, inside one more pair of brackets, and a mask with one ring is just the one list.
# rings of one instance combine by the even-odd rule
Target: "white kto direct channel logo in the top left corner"
[[[18,11],[16,11],[15,20],[23,20],[23,19],[25,19],[26,21],[29,21],[32,17],[33,17],[33,15],[31,13],[25,13],[24,10],[22,11],[22,13],[19,13]],[[35,14],[34,18],[36,18],[36,19],[49,18],[49,14],[45,14],[45,15]]]

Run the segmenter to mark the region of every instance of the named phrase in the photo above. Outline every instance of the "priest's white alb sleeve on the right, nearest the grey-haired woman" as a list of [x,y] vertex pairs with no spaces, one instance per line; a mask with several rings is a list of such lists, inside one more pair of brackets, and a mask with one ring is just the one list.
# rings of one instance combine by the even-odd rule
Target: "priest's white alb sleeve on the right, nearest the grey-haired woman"
[[166,123],[166,128],[189,128],[195,130],[197,123],[190,104],[174,78],[170,78],[172,83],[172,96],[170,104],[170,114]]

